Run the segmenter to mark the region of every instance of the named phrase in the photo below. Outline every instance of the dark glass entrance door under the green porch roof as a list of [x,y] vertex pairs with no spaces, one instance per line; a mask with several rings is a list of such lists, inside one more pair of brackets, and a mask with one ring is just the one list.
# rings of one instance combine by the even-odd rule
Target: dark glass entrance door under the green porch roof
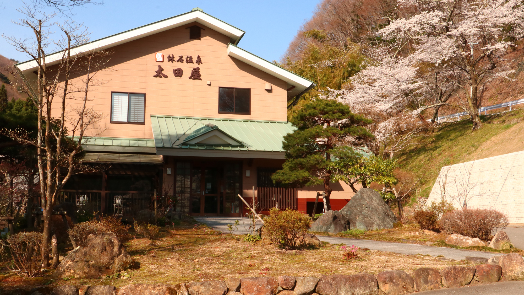
[[213,166],[193,167],[191,213],[216,216],[224,213],[223,168]]

